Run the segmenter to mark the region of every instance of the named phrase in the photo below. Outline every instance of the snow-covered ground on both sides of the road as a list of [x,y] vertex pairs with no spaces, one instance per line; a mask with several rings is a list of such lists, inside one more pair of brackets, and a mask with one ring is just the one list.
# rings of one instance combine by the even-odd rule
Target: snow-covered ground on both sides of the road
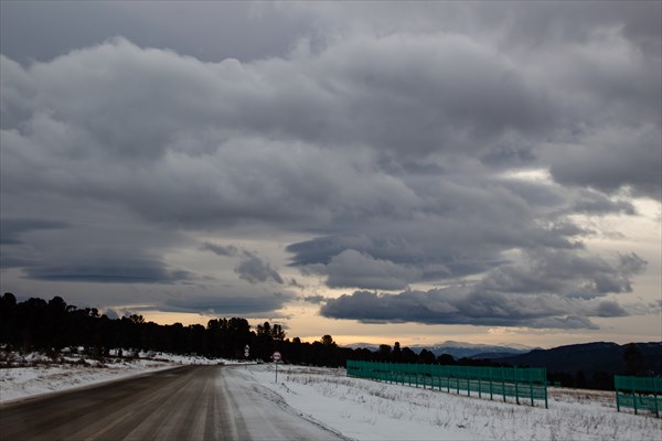
[[[0,401],[81,387],[181,364],[228,364],[156,355],[108,363],[0,369]],[[28,359],[25,361],[28,362]],[[70,362],[71,363],[71,362]],[[259,384],[275,406],[355,440],[660,440],[662,420],[617,412],[613,392],[549,389],[549,409],[349,378],[344,369],[274,365],[228,367],[237,381]]]

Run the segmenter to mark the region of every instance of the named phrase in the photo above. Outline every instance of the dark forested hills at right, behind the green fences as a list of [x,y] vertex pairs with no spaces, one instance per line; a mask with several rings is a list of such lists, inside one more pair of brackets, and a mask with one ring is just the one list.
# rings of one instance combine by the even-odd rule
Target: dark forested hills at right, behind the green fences
[[[641,354],[647,375],[662,375],[662,342],[636,343],[636,345]],[[483,358],[521,367],[546,367],[547,373],[575,374],[584,370],[587,375],[598,372],[619,375],[626,370],[624,346],[609,342],[596,342],[558,346],[551,349],[533,349],[515,356]]]

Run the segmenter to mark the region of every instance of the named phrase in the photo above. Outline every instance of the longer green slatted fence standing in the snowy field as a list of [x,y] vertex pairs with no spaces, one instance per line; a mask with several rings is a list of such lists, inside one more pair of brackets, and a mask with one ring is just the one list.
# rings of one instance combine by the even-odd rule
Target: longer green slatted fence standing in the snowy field
[[474,367],[413,365],[348,361],[348,376],[397,383],[408,386],[446,390],[490,399],[506,397],[534,401],[544,400],[547,408],[547,370],[522,367]]

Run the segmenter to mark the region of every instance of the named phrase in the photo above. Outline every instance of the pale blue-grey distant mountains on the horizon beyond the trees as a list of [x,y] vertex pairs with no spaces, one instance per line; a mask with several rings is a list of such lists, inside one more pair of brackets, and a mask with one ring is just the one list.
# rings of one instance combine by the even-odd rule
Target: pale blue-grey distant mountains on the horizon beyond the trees
[[[434,345],[403,345],[403,347],[409,347],[415,353],[420,353],[423,349],[428,349],[436,356],[441,354],[452,355],[455,358],[473,357],[473,358],[499,358],[508,357],[519,354],[524,354],[533,349],[531,346],[524,346],[519,344],[503,344],[503,345],[487,345],[487,344],[473,344],[465,342],[446,341],[442,343],[436,343]],[[353,349],[365,347],[371,351],[377,351],[380,345],[370,343],[353,343],[346,345]]]

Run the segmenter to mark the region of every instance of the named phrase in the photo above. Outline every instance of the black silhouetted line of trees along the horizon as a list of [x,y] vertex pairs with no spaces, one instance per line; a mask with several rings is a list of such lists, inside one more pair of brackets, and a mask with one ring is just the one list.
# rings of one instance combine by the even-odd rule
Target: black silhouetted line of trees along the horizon
[[[436,357],[427,349],[416,354],[408,347],[401,348],[398,342],[393,347],[381,345],[377,351],[341,347],[331,335],[308,343],[299,337],[288,338],[279,324],[264,322],[253,327],[242,318],[213,319],[206,327],[201,324],[184,326],[181,323],[161,325],[146,322],[138,314],[110,319],[96,308],[78,309],[67,304],[61,297],[50,301],[30,298],[18,302],[10,292],[0,298],[0,343],[13,351],[57,354],[65,347],[83,346],[86,352],[100,358],[108,356],[111,348],[125,348],[131,353],[167,352],[241,359],[245,358],[244,349],[248,345],[248,358],[253,361],[268,362],[278,351],[286,363],[313,366],[345,366],[348,359],[457,363],[447,354]],[[485,364],[483,361],[465,362]]]

